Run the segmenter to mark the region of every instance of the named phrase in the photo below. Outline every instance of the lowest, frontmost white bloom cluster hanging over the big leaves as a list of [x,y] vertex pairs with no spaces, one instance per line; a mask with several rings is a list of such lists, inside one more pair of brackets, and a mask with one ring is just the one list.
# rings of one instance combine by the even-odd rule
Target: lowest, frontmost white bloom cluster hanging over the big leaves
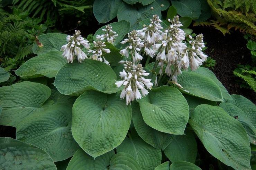
[[120,98],[124,99],[126,97],[126,105],[131,103],[134,99],[140,99],[142,96],[145,97],[148,94],[147,89],[151,89],[153,83],[151,79],[146,79],[143,76],[148,76],[149,73],[143,70],[141,64],[135,65],[131,61],[125,61],[124,70],[120,72],[120,77],[123,79],[117,81],[115,84],[117,87],[122,85],[125,88],[122,90]]

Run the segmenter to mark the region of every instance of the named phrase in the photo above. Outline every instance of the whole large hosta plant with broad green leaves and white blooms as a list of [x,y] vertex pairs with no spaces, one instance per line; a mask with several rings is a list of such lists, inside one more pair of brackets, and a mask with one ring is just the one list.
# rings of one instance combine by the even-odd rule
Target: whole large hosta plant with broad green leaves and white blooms
[[0,124],[17,128],[0,138],[0,168],[200,170],[201,141],[227,166],[251,169],[256,106],[200,67],[202,34],[168,21],[110,23],[92,44],[78,30],[38,36],[37,56],[15,71],[30,81],[0,87]]

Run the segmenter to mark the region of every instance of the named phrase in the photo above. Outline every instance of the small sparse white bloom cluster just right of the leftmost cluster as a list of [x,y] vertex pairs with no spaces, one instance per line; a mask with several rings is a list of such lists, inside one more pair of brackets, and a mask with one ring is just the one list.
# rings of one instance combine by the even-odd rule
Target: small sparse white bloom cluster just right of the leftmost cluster
[[[93,41],[93,45],[94,45],[94,49],[88,51],[89,53],[92,53],[91,58],[93,60],[98,60],[101,62],[104,60],[104,63],[106,63],[110,66],[109,62],[104,58],[103,53],[102,53],[102,52],[110,53],[109,49],[104,48],[104,47],[106,47],[105,42]],[[102,58],[103,58],[103,60],[102,60]]]

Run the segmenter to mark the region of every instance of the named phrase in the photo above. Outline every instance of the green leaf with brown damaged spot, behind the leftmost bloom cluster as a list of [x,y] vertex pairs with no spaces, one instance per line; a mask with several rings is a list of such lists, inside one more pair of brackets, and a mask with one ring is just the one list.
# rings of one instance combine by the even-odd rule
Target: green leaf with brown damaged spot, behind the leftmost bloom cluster
[[33,53],[34,54],[44,54],[49,51],[60,51],[61,46],[66,44],[66,34],[60,33],[47,33],[38,36],[38,41],[43,46],[39,47],[36,42],[33,44]]

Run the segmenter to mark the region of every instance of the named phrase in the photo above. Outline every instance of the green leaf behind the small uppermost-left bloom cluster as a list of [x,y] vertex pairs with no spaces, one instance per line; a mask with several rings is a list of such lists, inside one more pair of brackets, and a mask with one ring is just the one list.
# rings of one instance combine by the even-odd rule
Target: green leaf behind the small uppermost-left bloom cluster
[[[121,20],[121,21],[118,21],[118,22],[113,22],[113,23],[110,23],[108,25],[111,25],[112,30],[116,31],[117,34],[118,34],[118,36],[116,36],[116,40],[114,41],[114,44],[118,44],[125,37],[125,35],[130,31],[130,23],[125,21],[125,20]],[[105,31],[102,31],[102,29],[105,29],[105,28],[106,28],[106,25],[102,26],[100,29],[98,29],[95,32],[95,34],[93,35],[93,40],[94,41],[97,41],[96,35],[105,34]],[[111,51],[111,49],[110,49],[110,51]]]

